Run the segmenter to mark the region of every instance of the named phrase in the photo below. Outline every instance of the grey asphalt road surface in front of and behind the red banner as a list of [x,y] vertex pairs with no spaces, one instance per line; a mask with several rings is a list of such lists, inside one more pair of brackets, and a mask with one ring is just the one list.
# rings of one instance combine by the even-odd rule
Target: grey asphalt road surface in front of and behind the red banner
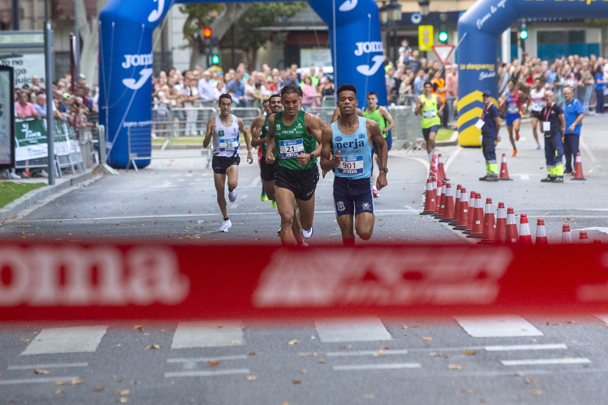
[[[460,183],[468,192],[474,189],[495,204],[505,202],[516,214],[527,213],[533,235],[535,219],[542,217],[550,242],[559,242],[565,222],[573,230],[587,228],[590,239],[606,242],[606,123],[606,118],[584,120],[585,182],[540,183],[546,175],[544,154],[534,149],[526,125],[517,157],[510,157],[506,131],[501,131],[503,141],[497,153],[508,155],[512,182],[479,182],[485,166],[477,148],[451,146],[439,152],[453,185]],[[39,208],[2,223],[0,237],[280,243],[275,236],[278,214],[269,202],[259,199],[257,165],[241,162],[238,199],[228,205],[233,226],[229,233],[219,233],[222,219],[206,160],[177,158],[192,151],[155,153],[167,159],[154,160],[139,172],[105,175],[53,196]],[[423,152],[390,153],[389,186],[375,200],[372,240],[471,243],[418,214],[427,165]],[[340,243],[331,181],[330,174],[317,186],[313,246]],[[578,236],[578,231],[574,233]],[[2,324],[0,400],[5,397],[22,404],[600,404],[606,401],[606,322],[608,317],[601,315],[503,317],[483,322],[455,315],[368,319],[354,325],[314,320],[271,325],[133,322],[142,325],[141,330],[132,324],[94,322],[78,325],[85,327],[78,330],[57,329],[74,324]],[[147,350],[154,344],[159,349]],[[34,369],[43,371],[36,374]],[[57,381],[65,384],[56,385]]]

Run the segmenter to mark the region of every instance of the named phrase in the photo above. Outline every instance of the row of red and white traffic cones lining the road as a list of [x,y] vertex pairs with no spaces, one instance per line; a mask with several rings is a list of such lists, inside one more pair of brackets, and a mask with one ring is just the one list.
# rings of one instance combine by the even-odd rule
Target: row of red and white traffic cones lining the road
[[[518,232],[515,212],[511,207],[505,209],[503,202],[498,203],[495,218],[494,204],[489,197],[486,198],[485,206],[482,205],[482,196],[478,192],[471,191],[471,196],[467,200],[466,188],[459,184],[454,199],[452,185],[445,181],[448,180],[445,179],[445,173],[443,180],[437,179],[442,175],[438,174],[439,168],[443,169],[443,159],[439,155],[435,161],[434,155],[429,179],[426,182],[426,198],[421,215],[432,215],[440,222],[449,222],[449,226],[454,226],[454,230],[462,231],[467,235],[466,237],[480,238],[479,243],[533,244],[527,214],[520,215]],[[506,175],[508,176],[508,171]],[[580,243],[589,243],[586,231],[580,232],[579,240]],[[596,242],[599,240],[594,241]],[[562,243],[572,243],[572,231],[567,223],[562,228]],[[545,222],[542,218],[536,223],[536,244],[548,244]]]

